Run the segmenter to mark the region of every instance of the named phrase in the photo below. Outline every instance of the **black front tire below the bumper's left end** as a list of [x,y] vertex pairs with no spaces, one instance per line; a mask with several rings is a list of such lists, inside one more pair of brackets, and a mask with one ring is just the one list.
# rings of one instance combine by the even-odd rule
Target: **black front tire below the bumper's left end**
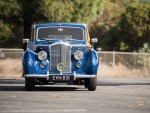
[[25,90],[33,91],[34,87],[35,87],[35,79],[25,78]]

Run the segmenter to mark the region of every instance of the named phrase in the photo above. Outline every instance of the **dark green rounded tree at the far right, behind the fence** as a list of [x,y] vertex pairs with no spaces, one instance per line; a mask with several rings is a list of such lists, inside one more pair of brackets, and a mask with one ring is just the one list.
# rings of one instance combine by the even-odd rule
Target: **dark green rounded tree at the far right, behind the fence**
[[128,5],[121,15],[118,32],[120,50],[138,50],[150,42],[150,4],[134,2]]

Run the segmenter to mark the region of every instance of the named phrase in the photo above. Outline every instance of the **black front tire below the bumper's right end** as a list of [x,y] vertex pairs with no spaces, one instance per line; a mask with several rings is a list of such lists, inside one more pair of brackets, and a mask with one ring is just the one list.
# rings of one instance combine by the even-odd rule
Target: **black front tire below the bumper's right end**
[[97,85],[97,78],[89,78],[85,81],[85,87],[89,91],[95,91],[96,90],[96,85]]

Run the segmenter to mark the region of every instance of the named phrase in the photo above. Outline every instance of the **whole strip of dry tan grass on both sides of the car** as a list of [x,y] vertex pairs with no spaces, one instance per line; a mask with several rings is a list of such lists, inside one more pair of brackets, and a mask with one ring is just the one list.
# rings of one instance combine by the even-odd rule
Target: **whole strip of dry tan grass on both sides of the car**
[[[0,59],[0,77],[17,78],[22,76],[21,59]],[[129,69],[122,64],[112,67],[110,65],[99,65],[98,77],[150,77],[147,68]]]

